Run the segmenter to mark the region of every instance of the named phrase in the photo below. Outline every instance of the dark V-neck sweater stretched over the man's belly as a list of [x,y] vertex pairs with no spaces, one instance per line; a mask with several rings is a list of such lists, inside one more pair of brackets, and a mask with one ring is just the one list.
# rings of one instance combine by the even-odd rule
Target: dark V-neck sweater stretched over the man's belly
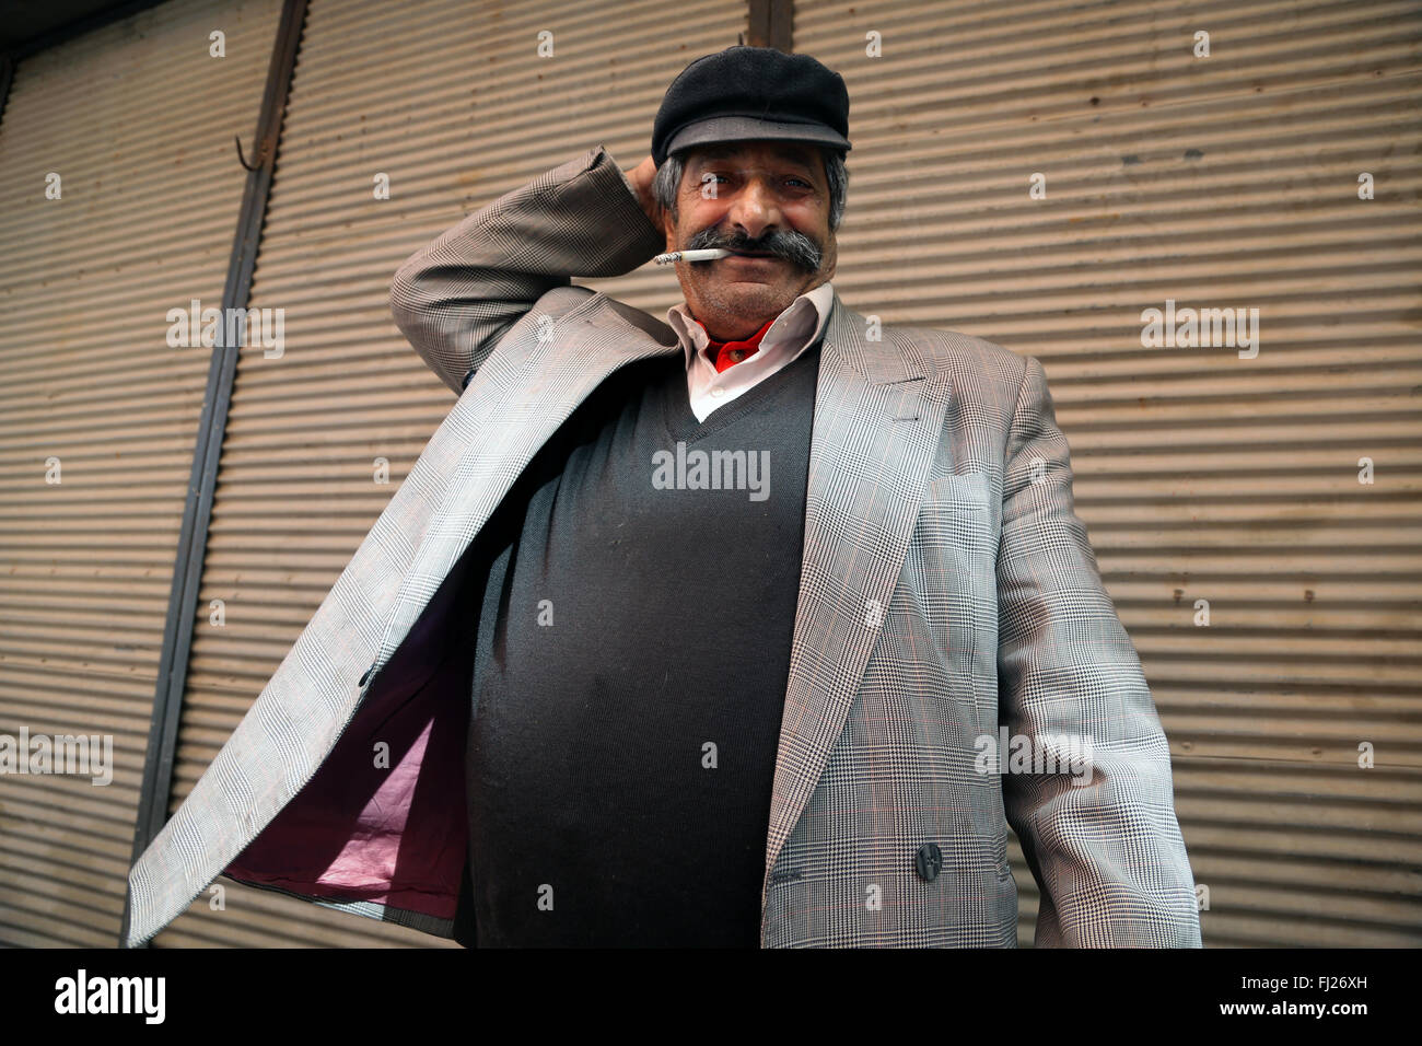
[[627,364],[485,525],[478,946],[759,945],[818,370],[698,423],[680,353]]

